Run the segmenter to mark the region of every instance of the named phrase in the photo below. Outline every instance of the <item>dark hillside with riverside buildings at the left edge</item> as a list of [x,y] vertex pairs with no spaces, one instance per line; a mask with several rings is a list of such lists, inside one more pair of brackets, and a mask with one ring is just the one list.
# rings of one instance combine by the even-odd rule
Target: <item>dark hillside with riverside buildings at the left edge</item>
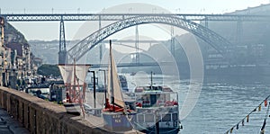
[[35,62],[29,43],[22,33],[0,17],[0,81],[1,85],[16,88],[17,79],[34,76],[42,60]]

